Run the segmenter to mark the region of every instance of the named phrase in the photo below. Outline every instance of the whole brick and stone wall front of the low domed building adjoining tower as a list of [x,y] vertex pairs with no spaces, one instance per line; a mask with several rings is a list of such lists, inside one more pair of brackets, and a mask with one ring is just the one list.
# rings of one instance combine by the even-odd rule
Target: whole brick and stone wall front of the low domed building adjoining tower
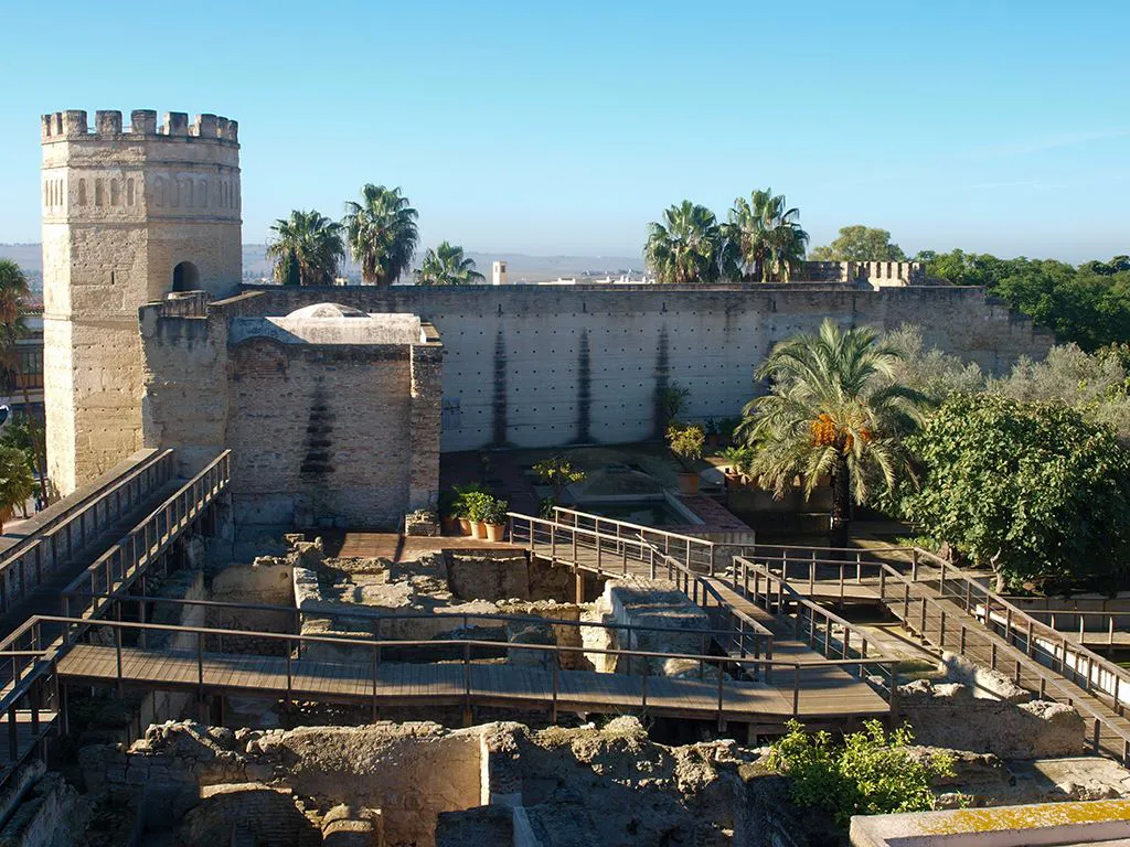
[[[242,524],[394,529],[435,506],[443,348],[310,343],[242,334],[228,313],[140,311],[146,444],[174,447],[182,473],[232,449]],[[344,325],[342,331],[349,325]]]

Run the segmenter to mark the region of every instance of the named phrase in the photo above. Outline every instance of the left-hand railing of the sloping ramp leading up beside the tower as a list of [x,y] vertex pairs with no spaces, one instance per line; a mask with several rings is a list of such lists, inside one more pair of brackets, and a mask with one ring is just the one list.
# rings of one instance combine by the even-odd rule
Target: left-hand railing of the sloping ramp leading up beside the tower
[[95,490],[54,504],[46,518],[32,518],[33,534],[0,551],[0,613],[8,612],[55,569],[86,550],[108,526],[121,521],[153,491],[173,479],[173,451],[149,451],[129,470]]

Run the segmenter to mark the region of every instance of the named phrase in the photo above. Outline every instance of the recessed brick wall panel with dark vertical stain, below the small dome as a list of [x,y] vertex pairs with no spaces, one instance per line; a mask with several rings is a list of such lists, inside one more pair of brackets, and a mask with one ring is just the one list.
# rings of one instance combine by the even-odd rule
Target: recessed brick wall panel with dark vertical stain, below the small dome
[[254,523],[293,516],[298,525],[400,522],[411,463],[408,346],[255,339],[231,350],[229,363],[237,514]]

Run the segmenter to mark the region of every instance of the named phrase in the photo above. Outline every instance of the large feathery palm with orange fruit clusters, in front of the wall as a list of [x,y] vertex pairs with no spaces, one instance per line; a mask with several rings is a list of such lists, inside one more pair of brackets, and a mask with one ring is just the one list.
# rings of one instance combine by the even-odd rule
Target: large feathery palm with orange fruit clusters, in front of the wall
[[741,433],[757,452],[751,473],[776,496],[800,477],[809,496],[832,477],[832,533],[846,540],[851,500],[863,503],[871,481],[893,490],[912,473],[902,437],[920,421],[925,398],[894,382],[897,348],[861,326],[841,332],[825,320],[817,334],[777,344],[757,369],[768,394],[746,404]]

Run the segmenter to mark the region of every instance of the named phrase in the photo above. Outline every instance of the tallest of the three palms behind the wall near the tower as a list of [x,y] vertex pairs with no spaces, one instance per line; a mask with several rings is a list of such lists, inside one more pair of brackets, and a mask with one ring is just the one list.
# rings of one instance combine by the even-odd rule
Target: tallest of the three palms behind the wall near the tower
[[411,267],[419,243],[418,215],[400,189],[370,183],[362,187],[360,199],[346,203],[342,224],[349,250],[365,282],[391,286]]

